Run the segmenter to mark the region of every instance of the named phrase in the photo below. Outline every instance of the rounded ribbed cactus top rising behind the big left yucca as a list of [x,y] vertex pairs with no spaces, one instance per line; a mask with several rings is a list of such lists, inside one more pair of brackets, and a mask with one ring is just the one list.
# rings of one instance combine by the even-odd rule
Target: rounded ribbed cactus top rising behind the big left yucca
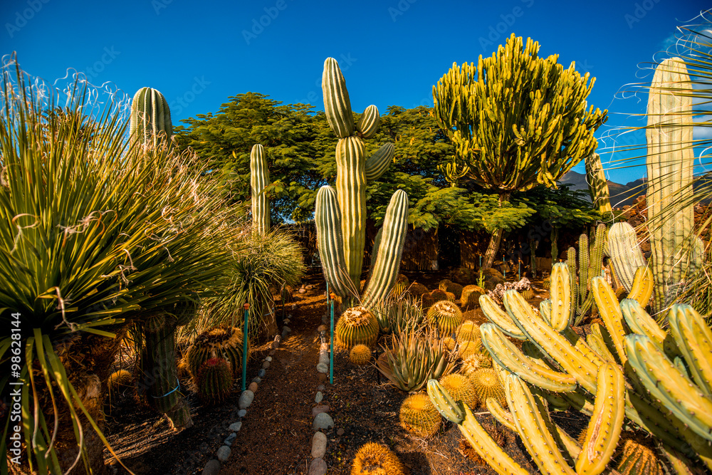
[[131,102],[131,137],[144,145],[156,145],[160,137],[173,135],[168,101],[158,90],[140,88]]

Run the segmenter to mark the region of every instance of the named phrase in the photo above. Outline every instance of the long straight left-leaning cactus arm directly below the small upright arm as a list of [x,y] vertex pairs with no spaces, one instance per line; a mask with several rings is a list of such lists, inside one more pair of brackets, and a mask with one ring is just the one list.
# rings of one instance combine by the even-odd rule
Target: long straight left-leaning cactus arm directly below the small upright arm
[[519,328],[530,336],[540,350],[550,355],[562,369],[592,393],[596,392],[597,362],[575,348],[564,335],[538,317],[517,291],[506,291],[504,305]]

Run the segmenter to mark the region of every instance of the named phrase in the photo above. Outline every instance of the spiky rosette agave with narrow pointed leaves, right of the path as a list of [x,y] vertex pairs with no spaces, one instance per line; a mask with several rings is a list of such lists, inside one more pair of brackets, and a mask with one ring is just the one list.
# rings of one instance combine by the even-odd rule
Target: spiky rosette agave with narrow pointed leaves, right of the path
[[378,370],[399,390],[417,392],[429,379],[439,379],[454,370],[456,356],[444,340],[432,332],[426,333],[407,326],[394,333],[390,344],[376,362]]

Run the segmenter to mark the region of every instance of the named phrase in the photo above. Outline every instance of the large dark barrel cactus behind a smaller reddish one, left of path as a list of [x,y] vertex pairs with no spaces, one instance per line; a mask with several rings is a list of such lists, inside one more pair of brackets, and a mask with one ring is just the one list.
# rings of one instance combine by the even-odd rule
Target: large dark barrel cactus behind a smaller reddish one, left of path
[[[248,352],[249,349],[248,341]],[[193,379],[197,377],[200,366],[214,357],[224,358],[229,363],[232,374],[236,377],[242,368],[242,355],[242,330],[227,325],[210,328],[198,335],[188,348],[184,360]]]

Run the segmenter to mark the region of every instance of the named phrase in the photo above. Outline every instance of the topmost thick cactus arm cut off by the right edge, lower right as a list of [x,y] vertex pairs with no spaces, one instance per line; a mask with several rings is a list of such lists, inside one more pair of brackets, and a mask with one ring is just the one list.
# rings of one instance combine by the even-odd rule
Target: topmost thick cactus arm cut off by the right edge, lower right
[[668,322],[693,379],[707,397],[712,397],[712,330],[689,305],[674,304]]

